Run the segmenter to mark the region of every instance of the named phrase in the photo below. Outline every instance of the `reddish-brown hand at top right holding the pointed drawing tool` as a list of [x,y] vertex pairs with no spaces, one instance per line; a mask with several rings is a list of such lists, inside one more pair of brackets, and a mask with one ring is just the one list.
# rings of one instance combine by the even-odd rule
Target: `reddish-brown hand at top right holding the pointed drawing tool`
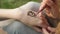
[[40,6],[39,12],[41,12],[45,9],[47,16],[52,17],[52,18],[59,18],[60,17],[59,8],[56,3],[56,0],[54,0],[54,1],[53,0],[43,0],[43,2],[41,3],[41,6]]

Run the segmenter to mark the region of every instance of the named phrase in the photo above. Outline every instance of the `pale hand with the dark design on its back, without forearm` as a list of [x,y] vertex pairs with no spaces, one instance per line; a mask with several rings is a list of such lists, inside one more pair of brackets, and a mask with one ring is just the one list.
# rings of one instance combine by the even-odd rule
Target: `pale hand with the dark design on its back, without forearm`
[[21,19],[19,19],[23,24],[33,28],[38,32],[42,32],[42,27],[47,28],[49,26],[45,16],[39,13],[36,17],[31,17],[26,15],[26,13],[21,14]]

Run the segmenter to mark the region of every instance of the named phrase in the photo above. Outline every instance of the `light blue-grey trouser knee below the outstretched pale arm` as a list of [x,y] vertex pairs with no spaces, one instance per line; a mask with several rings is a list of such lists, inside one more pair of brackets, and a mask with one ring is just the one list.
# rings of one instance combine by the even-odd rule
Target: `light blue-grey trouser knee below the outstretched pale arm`
[[18,21],[14,21],[13,23],[9,24],[8,26],[4,27],[3,29],[5,31],[7,31],[9,34],[14,34],[14,33],[18,33],[20,31],[23,30],[23,27],[25,25],[18,22]]

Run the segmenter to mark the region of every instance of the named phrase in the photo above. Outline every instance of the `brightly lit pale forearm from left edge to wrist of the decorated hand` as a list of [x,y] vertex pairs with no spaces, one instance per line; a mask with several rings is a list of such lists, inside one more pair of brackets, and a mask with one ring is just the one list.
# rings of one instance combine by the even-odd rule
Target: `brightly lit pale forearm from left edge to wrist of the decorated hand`
[[0,9],[0,18],[17,18],[17,11],[14,9]]

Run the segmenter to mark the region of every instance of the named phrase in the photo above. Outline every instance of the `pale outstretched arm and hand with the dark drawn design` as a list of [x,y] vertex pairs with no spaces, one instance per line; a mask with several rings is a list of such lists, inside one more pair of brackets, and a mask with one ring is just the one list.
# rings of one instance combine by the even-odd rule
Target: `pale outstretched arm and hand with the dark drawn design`
[[[29,9],[20,10],[20,8],[0,9],[0,18],[3,17],[3,18],[16,19],[18,21],[21,21],[23,24],[33,28],[34,30],[36,30],[38,32],[42,32],[40,27],[46,28],[49,26],[49,24],[47,23],[47,20],[45,20],[44,16],[41,13],[39,14],[39,17],[38,16],[31,17],[31,16],[27,15],[27,13],[29,12]],[[43,22],[45,22],[45,23],[43,23]]]

